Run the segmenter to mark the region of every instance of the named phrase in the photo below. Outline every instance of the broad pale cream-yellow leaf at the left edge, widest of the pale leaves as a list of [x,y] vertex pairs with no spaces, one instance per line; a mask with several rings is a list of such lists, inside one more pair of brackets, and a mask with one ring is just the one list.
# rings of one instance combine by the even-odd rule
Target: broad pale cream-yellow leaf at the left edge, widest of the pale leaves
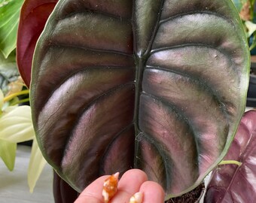
[[35,138],[30,107],[20,106],[11,108],[11,111],[8,109],[0,118],[0,138],[13,143]]

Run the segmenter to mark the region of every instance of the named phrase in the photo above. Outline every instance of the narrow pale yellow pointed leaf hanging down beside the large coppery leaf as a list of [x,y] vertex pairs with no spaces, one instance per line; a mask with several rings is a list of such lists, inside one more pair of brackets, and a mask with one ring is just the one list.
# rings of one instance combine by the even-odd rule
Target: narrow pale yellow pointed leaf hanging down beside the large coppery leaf
[[35,184],[38,181],[46,163],[47,162],[38,147],[38,142],[34,139],[28,169],[28,184],[30,192],[33,192]]

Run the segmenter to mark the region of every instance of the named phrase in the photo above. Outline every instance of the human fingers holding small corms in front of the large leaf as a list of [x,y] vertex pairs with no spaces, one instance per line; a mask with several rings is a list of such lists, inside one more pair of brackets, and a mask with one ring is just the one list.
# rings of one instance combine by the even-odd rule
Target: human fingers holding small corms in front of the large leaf
[[[75,203],[104,203],[102,189],[103,183],[108,177],[110,176],[104,175],[99,177],[87,186]],[[120,178],[117,193],[111,198],[109,203],[128,203],[136,192],[142,193],[143,203],[163,203],[164,201],[163,188],[158,183],[148,181],[145,172],[139,169],[131,169],[126,171]]]

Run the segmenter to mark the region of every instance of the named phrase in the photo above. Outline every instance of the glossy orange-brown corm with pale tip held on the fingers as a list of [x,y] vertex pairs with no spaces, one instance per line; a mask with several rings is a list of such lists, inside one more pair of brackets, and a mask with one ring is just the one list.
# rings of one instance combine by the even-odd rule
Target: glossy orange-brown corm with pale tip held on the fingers
[[115,193],[117,193],[118,177],[119,172],[112,174],[104,181],[102,196],[105,203],[108,203],[108,201],[115,195]]

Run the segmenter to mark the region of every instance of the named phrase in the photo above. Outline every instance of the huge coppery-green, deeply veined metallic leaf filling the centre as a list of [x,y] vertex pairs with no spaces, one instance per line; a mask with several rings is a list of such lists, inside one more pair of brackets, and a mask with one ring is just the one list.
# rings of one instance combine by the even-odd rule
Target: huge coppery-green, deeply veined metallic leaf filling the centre
[[80,192],[141,168],[166,198],[199,185],[245,108],[249,53],[230,0],[65,0],[35,49],[38,143]]

